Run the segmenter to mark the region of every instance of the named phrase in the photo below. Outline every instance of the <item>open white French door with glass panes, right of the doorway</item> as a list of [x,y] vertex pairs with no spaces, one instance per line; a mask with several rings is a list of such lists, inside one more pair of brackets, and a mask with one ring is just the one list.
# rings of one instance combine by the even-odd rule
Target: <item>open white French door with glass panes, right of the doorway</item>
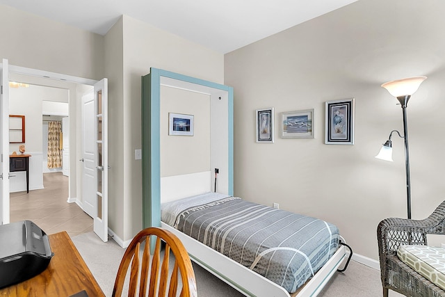
[[94,230],[108,241],[108,80],[95,84],[96,213]]

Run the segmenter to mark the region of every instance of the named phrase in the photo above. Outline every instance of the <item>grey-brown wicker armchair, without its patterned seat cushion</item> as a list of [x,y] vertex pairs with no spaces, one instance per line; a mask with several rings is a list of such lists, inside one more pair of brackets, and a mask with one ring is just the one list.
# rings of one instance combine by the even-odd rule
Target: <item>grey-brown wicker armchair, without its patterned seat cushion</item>
[[445,234],[445,201],[424,220],[387,218],[377,228],[378,252],[383,296],[388,289],[405,296],[445,296],[445,291],[432,284],[397,257],[402,245],[427,245],[426,234]]

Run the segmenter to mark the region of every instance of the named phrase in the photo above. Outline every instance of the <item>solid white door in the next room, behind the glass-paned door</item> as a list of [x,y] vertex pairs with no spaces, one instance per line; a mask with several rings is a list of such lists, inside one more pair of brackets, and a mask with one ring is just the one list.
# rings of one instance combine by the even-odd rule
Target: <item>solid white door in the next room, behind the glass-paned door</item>
[[95,156],[95,96],[91,91],[82,96],[82,208],[95,217],[96,208],[96,156]]

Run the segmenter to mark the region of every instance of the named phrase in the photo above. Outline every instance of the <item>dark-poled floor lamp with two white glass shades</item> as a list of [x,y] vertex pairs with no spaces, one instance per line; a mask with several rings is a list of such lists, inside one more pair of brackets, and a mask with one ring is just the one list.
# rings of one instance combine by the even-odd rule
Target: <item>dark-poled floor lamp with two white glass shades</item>
[[406,108],[411,95],[416,92],[422,81],[426,77],[410,77],[407,79],[398,79],[383,83],[382,87],[398,99],[401,103],[403,113],[403,135],[399,131],[393,130],[389,134],[389,139],[382,146],[382,149],[375,158],[385,161],[392,161],[392,144],[391,137],[394,132],[405,140],[405,173],[406,173],[406,195],[407,195],[407,212],[408,218],[411,218],[411,182],[410,182],[410,150],[408,149],[408,123],[406,118]]

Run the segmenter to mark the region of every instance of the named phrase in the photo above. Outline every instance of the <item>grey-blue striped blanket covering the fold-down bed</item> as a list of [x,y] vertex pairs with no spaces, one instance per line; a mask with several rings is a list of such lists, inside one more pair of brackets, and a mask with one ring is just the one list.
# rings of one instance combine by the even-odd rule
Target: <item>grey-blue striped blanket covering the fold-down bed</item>
[[161,204],[161,220],[295,292],[339,245],[335,225],[218,193]]

